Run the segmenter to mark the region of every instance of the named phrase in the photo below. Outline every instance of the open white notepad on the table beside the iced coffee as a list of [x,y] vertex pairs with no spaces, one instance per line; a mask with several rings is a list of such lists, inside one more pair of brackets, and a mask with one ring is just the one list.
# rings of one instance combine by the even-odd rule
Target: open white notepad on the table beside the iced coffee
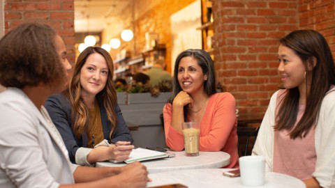
[[126,159],[124,162],[126,162],[126,164],[129,164],[137,161],[142,162],[151,159],[161,159],[166,157],[169,157],[169,155],[165,152],[158,152],[144,148],[136,148],[131,151],[131,155],[129,155],[129,158]]

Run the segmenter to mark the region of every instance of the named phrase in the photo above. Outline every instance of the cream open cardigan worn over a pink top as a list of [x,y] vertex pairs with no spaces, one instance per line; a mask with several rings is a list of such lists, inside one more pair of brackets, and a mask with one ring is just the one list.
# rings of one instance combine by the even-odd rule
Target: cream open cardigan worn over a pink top
[[[265,157],[267,171],[273,170],[274,157],[274,118],[276,97],[272,95],[267,112],[260,125],[252,155]],[[335,187],[335,87],[330,89],[322,100],[315,127],[316,163],[313,177],[321,187]]]

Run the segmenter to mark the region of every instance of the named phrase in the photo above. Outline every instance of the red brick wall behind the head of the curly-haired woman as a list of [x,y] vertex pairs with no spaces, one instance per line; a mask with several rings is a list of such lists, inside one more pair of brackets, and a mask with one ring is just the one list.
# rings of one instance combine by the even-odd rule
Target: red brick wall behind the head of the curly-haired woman
[[63,38],[68,61],[75,63],[73,0],[7,0],[4,11],[5,33],[25,22],[48,24]]

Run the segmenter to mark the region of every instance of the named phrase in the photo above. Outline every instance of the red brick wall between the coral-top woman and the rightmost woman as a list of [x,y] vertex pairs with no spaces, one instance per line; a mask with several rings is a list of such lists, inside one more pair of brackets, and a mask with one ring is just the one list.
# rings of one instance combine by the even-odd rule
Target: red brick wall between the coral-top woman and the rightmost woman
[[264,115],[278,89],[278,38],[298,28],[297,1],[213,0],[218,81],[241,114]]

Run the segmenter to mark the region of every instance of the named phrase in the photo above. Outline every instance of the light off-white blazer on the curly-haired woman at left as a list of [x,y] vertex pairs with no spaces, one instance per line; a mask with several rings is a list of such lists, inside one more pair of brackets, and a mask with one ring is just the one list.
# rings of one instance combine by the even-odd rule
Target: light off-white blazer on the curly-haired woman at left
[[64,142],[44,107],[18,88],[0,93],[0,187],[74,183]]

